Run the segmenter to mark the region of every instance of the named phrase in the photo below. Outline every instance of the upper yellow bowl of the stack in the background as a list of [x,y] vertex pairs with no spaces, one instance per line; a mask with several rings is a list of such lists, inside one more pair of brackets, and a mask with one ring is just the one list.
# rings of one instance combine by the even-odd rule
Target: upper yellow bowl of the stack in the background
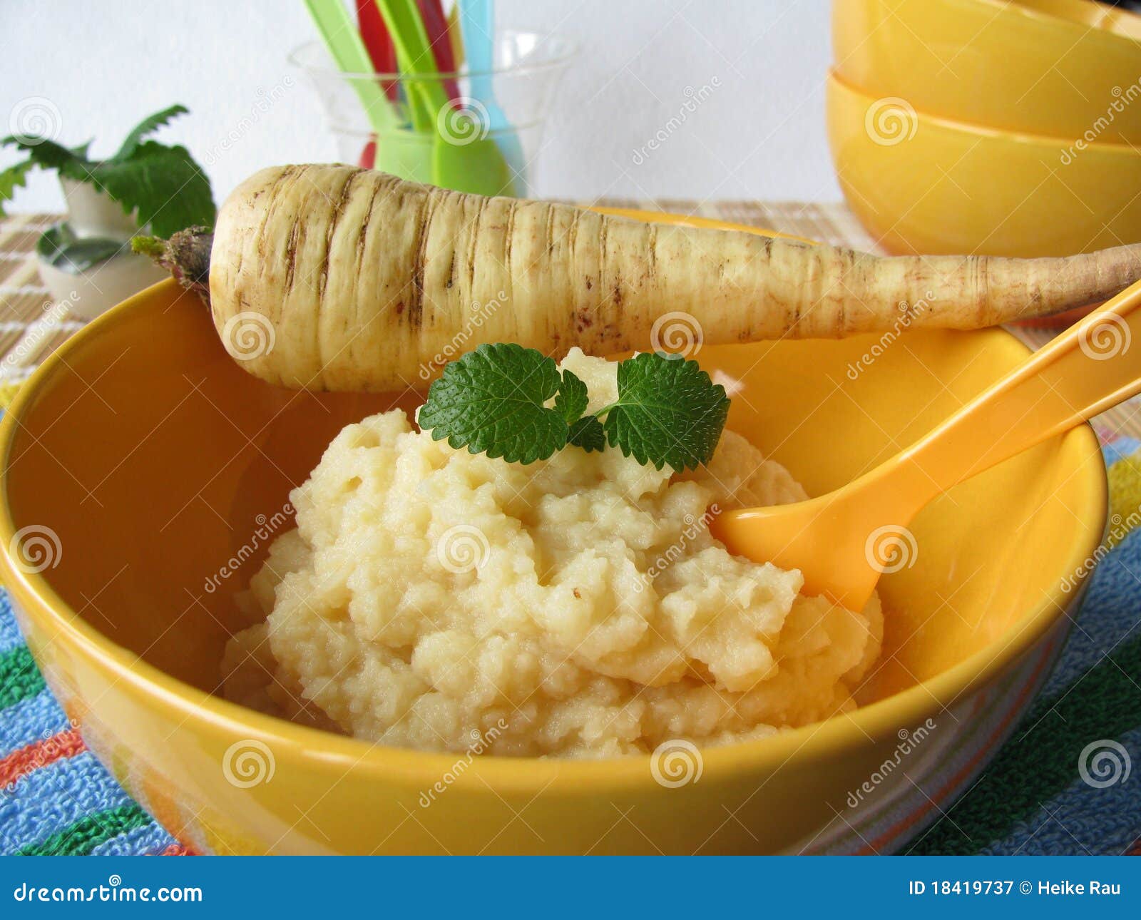
[[1141,143],[1141,19],[1108,9],[1093,0],[836,0],[835,68],[875,97],[944,118]]

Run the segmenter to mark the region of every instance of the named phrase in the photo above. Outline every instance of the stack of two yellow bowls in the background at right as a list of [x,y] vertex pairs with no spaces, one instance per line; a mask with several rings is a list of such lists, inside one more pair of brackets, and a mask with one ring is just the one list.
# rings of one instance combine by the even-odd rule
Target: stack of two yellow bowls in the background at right
[[1141,17],[1095,0],[835,0],[827,122],[891,252],[1141,241]]

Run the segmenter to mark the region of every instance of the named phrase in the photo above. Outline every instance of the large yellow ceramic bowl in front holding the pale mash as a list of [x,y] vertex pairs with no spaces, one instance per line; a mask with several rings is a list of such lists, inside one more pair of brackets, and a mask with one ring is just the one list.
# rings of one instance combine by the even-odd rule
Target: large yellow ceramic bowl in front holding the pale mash
[[[706,347],[701,361],[744,381],[748,398],[734,401],[730,425],[818,492],[1026,355],[1001,331],[880,345]],[[873,346],[882,354],[864,366]],[[0,573],[35,660],[100,760],[197,849],[858,849],[852,828],[889,848],[936,814],[911,780],[945,802],[1029,702],[1076,602],[1067,579],[1084,571],[1106,514],[1087,427],[956,489],[914,522],[914,567],[883,581],[891,613],[869,704],[704,750],[699,775],[691,765],[677,788],[655,781],[649,756],[469,762],[212,695],[240,622],[233,595],[269,533],[288,526],[275,514],[290,487],[342,425],[413,402],[269,387],[226,355],[202,305],[167,282],[68,340],[0,426]],[[873,780],[906,732],[911,780]],[[864,783],[872,791],[850,807]]]

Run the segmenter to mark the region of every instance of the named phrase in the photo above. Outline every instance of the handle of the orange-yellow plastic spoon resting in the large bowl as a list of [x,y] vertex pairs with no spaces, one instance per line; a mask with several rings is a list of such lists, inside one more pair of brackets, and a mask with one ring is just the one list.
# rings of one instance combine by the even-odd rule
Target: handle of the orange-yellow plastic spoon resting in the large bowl
[[1141,392],[1141,282],[995,381],[900,455],[932,494]]

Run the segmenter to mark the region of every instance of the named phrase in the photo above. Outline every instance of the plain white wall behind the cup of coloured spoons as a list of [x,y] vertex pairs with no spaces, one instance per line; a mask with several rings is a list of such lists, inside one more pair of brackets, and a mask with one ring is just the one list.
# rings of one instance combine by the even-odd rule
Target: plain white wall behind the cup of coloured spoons
[[[539,194],[840,197],[823,126],[827,0],[500,0],[497,9],[501,27],[559,32],[582,48],[551,113]],[[141,115],[180,102],[192,114],[162,139],[204,162],[213,152],[219,201],[259,167],[337,159],[311,88],[285,63],[315,35],[301,0],[3,0],[0,35],[3,134],[6,118],[43,97],[62,143],[95,137],[94,153],[107,154]],[[219,152],[286,76],[284,98]],[[636,164],[686,88],[711,83]],[[0,166],[13,159],[0,153]],[[62,209],[46,176],[17,195],[14,210]]]

